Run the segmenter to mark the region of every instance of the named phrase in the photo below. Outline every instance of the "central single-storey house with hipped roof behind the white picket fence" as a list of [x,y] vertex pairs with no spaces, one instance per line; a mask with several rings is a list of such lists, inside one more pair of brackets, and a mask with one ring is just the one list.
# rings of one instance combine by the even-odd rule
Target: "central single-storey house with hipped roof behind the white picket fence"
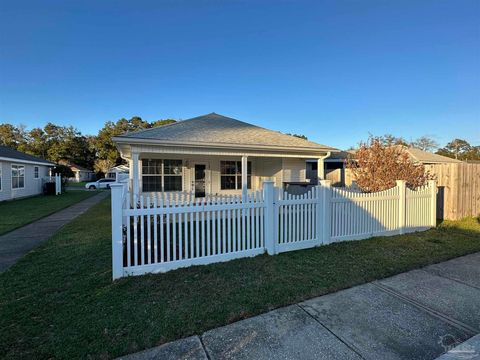
[[324,159],[338,151],[215,113],[113,141],[129,162],[134,195],[245,195],[267,179],[280,187],[305,184],[306,160],[317,161],[317,178],[323,179]]

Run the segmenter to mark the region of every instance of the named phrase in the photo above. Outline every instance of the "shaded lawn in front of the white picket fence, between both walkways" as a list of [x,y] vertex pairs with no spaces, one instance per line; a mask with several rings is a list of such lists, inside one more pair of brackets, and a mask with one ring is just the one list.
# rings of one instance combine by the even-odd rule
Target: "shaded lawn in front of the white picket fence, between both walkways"
[[0,274],[5,358],[113,358],[480,251],[477,219],[111,281],[109,200]]

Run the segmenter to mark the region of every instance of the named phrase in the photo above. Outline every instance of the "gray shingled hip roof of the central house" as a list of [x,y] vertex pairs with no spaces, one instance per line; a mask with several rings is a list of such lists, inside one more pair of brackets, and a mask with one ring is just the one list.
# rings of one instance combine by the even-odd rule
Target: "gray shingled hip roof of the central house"
[[126,133],[118,138],[251,146],[290,147],[335,151],[330,146],[285,135],[243,121],[211,113],[153,129]]

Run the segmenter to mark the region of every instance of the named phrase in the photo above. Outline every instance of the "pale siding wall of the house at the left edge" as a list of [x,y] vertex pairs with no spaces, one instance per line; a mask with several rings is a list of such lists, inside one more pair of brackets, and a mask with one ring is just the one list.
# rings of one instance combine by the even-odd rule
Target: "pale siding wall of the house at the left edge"
[[[25,166],[25,186],[21,189],[12,189],[12,164]],[[22,164],[20,162],[0,161],[2,168],[2,189],[0,201],[19,197],[32,196],[42,193],[43,177],[48,176],[48,166]],[[34,178],[34,167],[38,166],[38,179]]]

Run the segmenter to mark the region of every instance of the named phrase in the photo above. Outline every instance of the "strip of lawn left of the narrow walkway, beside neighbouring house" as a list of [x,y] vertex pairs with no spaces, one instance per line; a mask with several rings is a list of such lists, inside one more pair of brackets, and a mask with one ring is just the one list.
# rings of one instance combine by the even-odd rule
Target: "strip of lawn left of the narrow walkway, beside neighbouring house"
[[89,191],[69,191],[57,196],[38,195],[0,202],[0,235],[95,195]]

